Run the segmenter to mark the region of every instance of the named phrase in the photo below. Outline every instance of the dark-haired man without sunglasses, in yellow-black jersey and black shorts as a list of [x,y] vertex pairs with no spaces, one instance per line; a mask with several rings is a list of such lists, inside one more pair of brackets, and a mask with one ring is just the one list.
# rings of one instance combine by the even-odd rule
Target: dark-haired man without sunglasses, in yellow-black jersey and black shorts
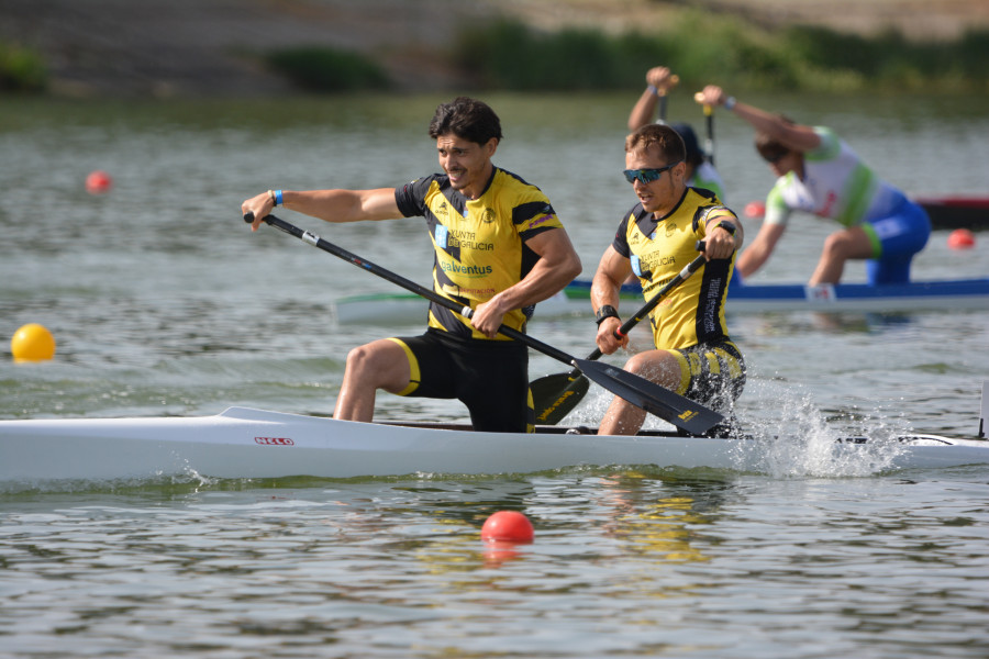
[[396,188],[273,190],[241,211],[254,213],[254,231],[276,205],[326,222],[425,217],[433,289],[474,310],[468,320],[432,303],[424,334],[351,350],[335,418],[371,421],[382,389],[458,399],[479,431],[531,432],[527,349],[497,331],[502,323],[524,331],[535,303],[580,273],[580,259],[546,196],[493,165],[502,133],[491,108],[466,97],[443,103],[429,134],[442,174]]

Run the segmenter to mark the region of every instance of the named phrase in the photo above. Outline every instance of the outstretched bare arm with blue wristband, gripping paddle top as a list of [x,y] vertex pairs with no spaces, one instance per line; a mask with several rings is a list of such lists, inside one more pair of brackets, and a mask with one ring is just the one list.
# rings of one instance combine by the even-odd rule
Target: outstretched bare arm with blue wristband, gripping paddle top
[[[374,190],[279,190],[281,205],[326,222],[360,222],[401,217],[395,188]],[[266,191],[244,200],[241,211],[254,213],[251,231],[257,231],[262,220],[275,208],[276,194]]]

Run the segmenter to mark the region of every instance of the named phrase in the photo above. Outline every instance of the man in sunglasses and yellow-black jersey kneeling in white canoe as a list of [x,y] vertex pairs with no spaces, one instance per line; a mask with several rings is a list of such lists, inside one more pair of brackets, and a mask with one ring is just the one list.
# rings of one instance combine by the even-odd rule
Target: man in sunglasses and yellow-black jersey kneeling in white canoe
[[[651,300],[697,256],[707,263],[666,293],[649,314],[654,348],[634,355],[625,370],[708,404],[731,417],[745,386],[745,361],[729,337],[724,302],[743,230],[710,190],[687,186],[684,139],[670,126],[648,124],[625,138],[625,179],[638,202],[624,214],[591,284],[598,348],[611,355],[629,345],[616,331],[621,283],[634,273]],[[645,411],[615,398],[599,426],[632,435]]]

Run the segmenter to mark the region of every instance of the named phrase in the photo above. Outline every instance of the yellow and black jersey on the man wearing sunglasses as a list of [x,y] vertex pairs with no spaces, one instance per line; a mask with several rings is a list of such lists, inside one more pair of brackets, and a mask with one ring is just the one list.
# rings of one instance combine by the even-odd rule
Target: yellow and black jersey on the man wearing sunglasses
[[[713,192],[687,188],[680,203],[658,220],[641,203],[635,204],[619,225],[612,246],[631,260],[643,295],[651,300],[698,256],[694,244],[704,239],[705,223],[716,219],[732,220],[735,214]],[[708,261],[667,293],[649,314],[657,348],[684,349],[729,338],[724,302],[734,265],[734,256]]]

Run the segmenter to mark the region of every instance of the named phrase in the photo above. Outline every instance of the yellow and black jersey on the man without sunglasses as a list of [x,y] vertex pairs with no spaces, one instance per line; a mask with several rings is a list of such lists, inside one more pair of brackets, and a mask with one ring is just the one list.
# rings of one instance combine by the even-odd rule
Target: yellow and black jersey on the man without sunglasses
[[[395,190],[405,217],[422,215],[433,239],[433,290],[459,305],[481,302],[521,281],[538,260],[525,241],[562,228],[543,192],[514,174],[494,168],[485,192],[467,199],[449,187],[449,177],[434,174]],[[504,324],[525,331],[533,308],[504,315]],[[430,327],[457,336],[487,338],[467,319],[430,304]],[[510,340],[498,335],[496,340]]]

